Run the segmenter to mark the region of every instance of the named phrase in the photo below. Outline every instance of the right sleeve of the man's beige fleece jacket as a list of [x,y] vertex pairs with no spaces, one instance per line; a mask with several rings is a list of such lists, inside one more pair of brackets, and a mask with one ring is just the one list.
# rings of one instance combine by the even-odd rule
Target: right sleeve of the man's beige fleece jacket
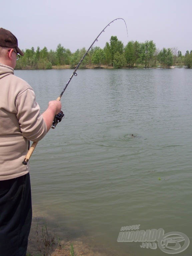
[[15,107],[22,136],[35,142],[41,140],[47,133],[47,126],[40,114],[34,91],[27,88],[21,92],[16,97]]

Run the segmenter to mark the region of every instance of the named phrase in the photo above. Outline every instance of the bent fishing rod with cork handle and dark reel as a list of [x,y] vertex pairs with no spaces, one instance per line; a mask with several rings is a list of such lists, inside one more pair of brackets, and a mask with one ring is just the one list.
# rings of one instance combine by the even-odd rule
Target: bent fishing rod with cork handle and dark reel
[[[88,52],[89,52],[89,50],[91,49],[91,47],[93,46],[93,44],[94,44],[96,41],[98,41],[98,37],[99,37],[103,32],[105,32],[105,29],[106,29],[108,26],[110,26],[111,23],[113,23],[113,22],[116,21],[116,20],[123,20],[123,21],[125,22],[125,20],[124,20],[123,18],[117,18],[117,19],[112,20],[109,24],[107,24],[107,26],[106,26],[104,29],[102,29],[102,31],[101,31],[101,32],[99,33],[99,35],[95,38],[95,40],[93,41],[93,43],[90,45],[90,47],[88,48],[88,50],[86,51],[86,53],[83,55],[83,57],[81,58],[81,60],[80,60],[79,63],[77,64],[77,66],[76,66],[76,68],[74,69],[72,75],[70,76],[68,82],[66,83],[66,85],[65,85],[65,87],[64,87],[64,89],[63,89],[63,91],[61,92],[61,94],[60,94],[59,97],[57,98],[58,101],[61,100],[61,97],[62,97],[64,91],[66,90],[68,84],[70,83],[72,77],[73,77],[73,76],[77,76],[77,73],[76,73],[77,69],[78,69],[79,66],[81,65],[81,63],[82,63],[82,61],[84,60],[85,56],[89,56],[89,55],[88,55]],[[126,24],[126,22],[125,22],[125,26],[126,26],[126,30],[127,30],[127,24]],[[128,37],[128,30],[127,30],[127,37]],[[54,118],[54,120],[53,120],[53,124],[52,124],[51,128],[52,128],[52,129],[55,129],[55,126],[56,126],[59,122],[61,122],[61,120],[62,120],[63,117],[64,117],[63,111],[60,111],[57,115],[55,115],[55,118]],[[33,144],[31,145],[30,149],[28,150],[28,153],[27,153],[27,155],[25,156],[24,161],[22,162],[24,165],[27,165],[27,162],[29,161],[29,159],[30,159],[30,157],[31,157],[31,155],[32,155],[32,153],[33,153],[35,147],[37,146],[37,143],[38,143],[38,142],[33,142]]]

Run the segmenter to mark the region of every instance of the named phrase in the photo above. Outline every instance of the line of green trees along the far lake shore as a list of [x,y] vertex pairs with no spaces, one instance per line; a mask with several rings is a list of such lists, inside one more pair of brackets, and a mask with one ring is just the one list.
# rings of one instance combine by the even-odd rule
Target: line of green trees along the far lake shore
[[[69,65],[75,68],[80,59],[86,53],[85,47],[77,49],[74,53],[70,49],[64,48],[60,43],[56,50],[48,51],[47,47],[36,51],[34,47],[26,49],[16,65],[16,69],[52,69],[52,66]],[[102,65],[113,68],[134,68],[134,67],[171,67],[183,66],[192,67],[192,51],[187,51],[182,55],[177,48],[156,48],[155,43],[145,41],[129,41],[126,46],[118,40],[117,36],[111,36],[110,42],[106,42],[102,49],[98,46],[92,47],[81,63],[81,68],[86,66]]]

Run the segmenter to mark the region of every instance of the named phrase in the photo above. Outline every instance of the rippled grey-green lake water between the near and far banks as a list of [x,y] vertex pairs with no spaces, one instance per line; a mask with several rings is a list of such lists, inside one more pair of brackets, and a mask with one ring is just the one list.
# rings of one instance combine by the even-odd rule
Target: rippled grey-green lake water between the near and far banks
[[[44,111],[72,72],[15,75]],[[192,244],[192,70],[77,70],[61,102],[64,120],[30,159],[33,216],[109,255],[167,255],[117,242],[122,226],[182,232]]]

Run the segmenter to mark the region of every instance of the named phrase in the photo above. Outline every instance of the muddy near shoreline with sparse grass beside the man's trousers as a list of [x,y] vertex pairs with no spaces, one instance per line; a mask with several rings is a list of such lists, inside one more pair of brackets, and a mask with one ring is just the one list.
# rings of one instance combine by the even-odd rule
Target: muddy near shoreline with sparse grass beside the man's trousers
[[[33,217],[26,256],[116,256],[79,230],[60,227],[52,218]],[[127,255],[129,256],[129,255]]]

